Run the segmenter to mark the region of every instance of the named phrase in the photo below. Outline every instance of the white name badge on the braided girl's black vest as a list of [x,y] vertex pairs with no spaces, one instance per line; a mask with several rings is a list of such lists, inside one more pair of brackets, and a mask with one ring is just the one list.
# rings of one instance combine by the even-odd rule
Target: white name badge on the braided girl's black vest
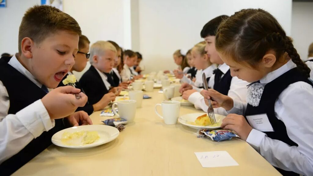
[[269,122],[267,114],[258,114],[253,116],[246,116],[250,126],[261,132],[273,132],[274,129]]

